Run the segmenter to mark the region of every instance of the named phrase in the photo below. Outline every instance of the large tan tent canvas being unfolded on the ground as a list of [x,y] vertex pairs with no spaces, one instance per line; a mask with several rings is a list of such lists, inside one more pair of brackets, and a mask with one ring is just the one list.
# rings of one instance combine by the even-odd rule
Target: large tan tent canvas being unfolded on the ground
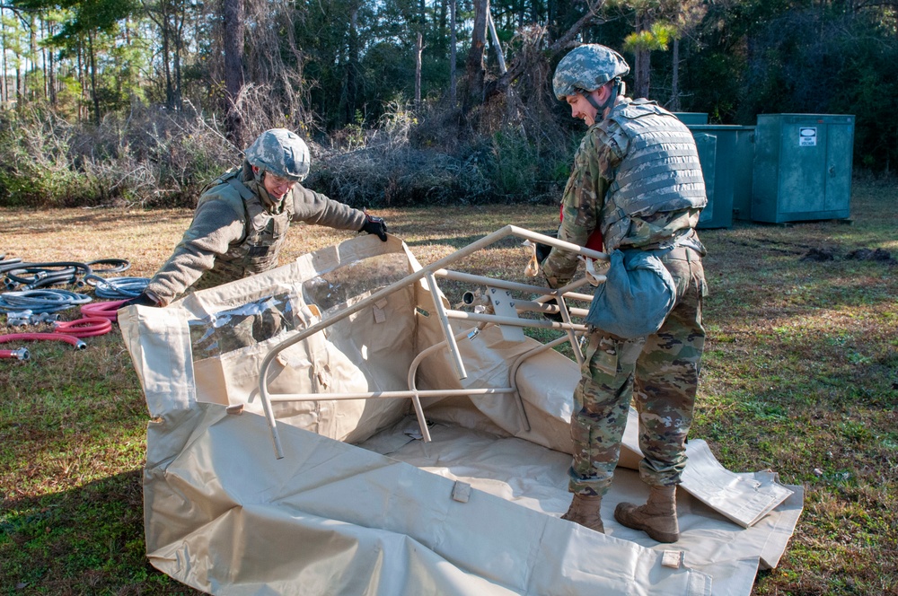
[[[534,237],[503,231],[481,244]],[[216,594],[749,594],[801,488],[691,439],[682,538],[658,544],[611,514],[647,495],[631,412],[606,534],[559,519],[579,367],[515,312],[449,308],[436,276],[475,244],[422,267],[401,240],[361,236],[119,311],[151,416],[150,562]],[[510,296],[500,283],[485,292]]]

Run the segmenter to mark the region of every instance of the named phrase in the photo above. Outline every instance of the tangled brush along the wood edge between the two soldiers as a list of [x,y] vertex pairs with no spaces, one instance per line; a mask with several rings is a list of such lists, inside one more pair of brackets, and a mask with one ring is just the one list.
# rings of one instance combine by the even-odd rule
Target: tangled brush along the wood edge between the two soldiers
[[[488,138],[456,145],[452,152],[409,135],[420,129],[440,137],[440,125],[418,123],[402,104],[392,104],[380,127],[364,142],[355,125],[339,140],[348,153],[322,155],[313,162],[310,188],[353,206],[476,205],[553,203],[567,181],[573,143],[537,145],[521,127],[504,127]],[[579,136],[580,133],[577,133]]]

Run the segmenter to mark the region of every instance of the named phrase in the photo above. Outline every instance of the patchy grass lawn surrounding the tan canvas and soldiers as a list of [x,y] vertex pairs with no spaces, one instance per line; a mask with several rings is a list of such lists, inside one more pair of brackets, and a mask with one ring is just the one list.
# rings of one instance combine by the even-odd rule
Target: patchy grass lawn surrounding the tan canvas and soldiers
[[[755,594],[898,594],[896,207],[896,185],[855,180],[851,223],[736,222],[700,232],[711,294],[692,435],[728,469],[769,468],[806,487],[786,554],[759,574]],[[550,230],[558,208],[376,215],[427,264],[506,223]],[[118,275],[150,276],[190,216],[0,209],[0,254],[128,259]],[[351,235],[295,226],[282,262]],[[876,249],[892,259],[865,259]],[[524,250],[507,241],[457,268],[525,281],[525,264]],[[468,288],[444,289],[456,300]],[[0,334],[22,330],[4,321]],[[146,562],[143,395],[118,329],[86,342],[83,351],[30,343],[31,361],[0,360],[0,594],[198,593]],[[0,346],[10,347],[19,345]]]

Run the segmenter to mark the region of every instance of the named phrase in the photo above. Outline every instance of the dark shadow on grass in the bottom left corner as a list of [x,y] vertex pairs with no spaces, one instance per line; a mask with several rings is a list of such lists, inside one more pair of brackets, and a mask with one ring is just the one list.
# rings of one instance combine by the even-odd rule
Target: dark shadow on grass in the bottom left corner
[[35,497],[0,513],[0,593],[198,594],[145,556],[142,470]]

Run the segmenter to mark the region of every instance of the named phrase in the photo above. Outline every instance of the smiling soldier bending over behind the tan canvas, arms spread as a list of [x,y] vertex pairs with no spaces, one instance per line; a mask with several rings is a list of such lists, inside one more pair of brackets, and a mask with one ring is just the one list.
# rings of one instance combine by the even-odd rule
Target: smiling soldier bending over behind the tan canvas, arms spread
[[128,303],[165,306],[189,287],[203,289],[277,267],[295,221],[376,234],[383,219],[366,215],[300,184],[309,148],[284,128],[262,133],[235,168],[207,186],[193,222],[140,296]]

